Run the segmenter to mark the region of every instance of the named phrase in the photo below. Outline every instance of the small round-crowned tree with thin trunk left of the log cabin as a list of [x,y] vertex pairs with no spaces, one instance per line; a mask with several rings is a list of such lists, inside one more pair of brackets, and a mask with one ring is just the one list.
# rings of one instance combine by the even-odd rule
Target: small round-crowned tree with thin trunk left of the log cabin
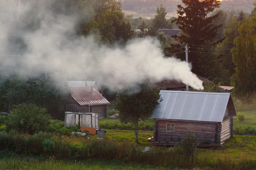
[[147,119],[159,104],[159,92],[160,89],[152,85],[146,78],[134,88],[119,91],[116,96],[116,109],[120,112],[120,121],[134,124],[136,142],[139,142],[138,123],[140,120]]

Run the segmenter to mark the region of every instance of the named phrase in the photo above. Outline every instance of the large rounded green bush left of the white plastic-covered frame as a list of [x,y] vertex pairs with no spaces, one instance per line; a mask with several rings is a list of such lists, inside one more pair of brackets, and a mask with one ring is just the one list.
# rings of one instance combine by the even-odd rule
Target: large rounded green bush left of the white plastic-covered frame
[[51,116],[47,114],[46,109],[33,104],[22,104],[18,105],[8,116],[6,130],[33,134],[39,131],[46,131],[50,120]]

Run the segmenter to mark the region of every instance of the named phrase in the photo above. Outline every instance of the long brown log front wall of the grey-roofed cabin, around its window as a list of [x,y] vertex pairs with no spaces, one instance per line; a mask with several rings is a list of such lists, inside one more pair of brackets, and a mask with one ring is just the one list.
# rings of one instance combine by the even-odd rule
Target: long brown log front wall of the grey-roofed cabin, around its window
[[[156,123],[158,122],[158,126]],[[166,131],[166,125],[173,124],[174,131]],[[172,120],[155,120],[154,140],[181,142],[184,134],[189,130],[198,135],[201,143],[209,142],[215,143],[216,126],[218,123],[204,123],[204,122],[183,122]]]

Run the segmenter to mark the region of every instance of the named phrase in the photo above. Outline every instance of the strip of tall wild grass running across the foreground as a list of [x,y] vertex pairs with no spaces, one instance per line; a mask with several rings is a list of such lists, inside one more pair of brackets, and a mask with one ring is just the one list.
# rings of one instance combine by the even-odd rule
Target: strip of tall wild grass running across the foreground
[[[80,144],[68,142],[64,138],[54,137],[54,152],[46,153],[42,148],[44,139],[51,138],[49,133],[38,133],[33,136],[0,133],[0,149],[17,153],[54,156],[58,159],[79,160],[119,160],[123,162],[145,163],[154,166],[170,166],[180,168],[212,167],[220,169],[253,169],[256,158],[246,155],[224,154],[210,150],[197,153],[196,156],[184,156],[181,147],[155,147],[148,153],[141,152],[136,144],[115,142],[110,139],[79,139]],[[75,144],[74,144],[75,143]],[[217,154],[217,156],[216,156]]]

